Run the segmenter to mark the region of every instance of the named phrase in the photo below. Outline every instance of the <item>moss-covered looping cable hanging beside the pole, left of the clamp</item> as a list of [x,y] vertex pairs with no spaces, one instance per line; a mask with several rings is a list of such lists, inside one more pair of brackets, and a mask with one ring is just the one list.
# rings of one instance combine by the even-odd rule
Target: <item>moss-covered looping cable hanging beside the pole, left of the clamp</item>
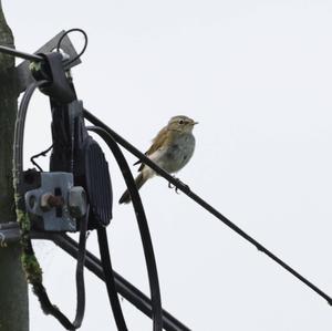
[[49,299],[46,290],[42,283],[42,271],[35,259],[31,238],[30,238],[30,220],[25,214],[25,204],[22,189],[22,174],[23,174],[23,137],[24,137],[24,125],[28,113],[30,100],[38,87],[41,87],[46,81],[34,82],[28,86],[22,97],[19,112],[17,115],[15,128],[14,128],[14,147],[13,147],[13,185],[15,190],[15,207],[17,216],[21,227],[21,244],[23,249],[23,268],[27,273],[29,282],[32,285],[33,292],[37,294],[42,310],[46,314],[52,314],[59,322],[68,330],[76,330],[81,325],[84,307],[85,307],[85,294],[84,294],[84,278],[83,267],[85,258],[85,237],[87,228],[87,217],[80,221],[80,244],[79,244],[79,258],[76,266],[76,290],[77,290],[77,307],[76,316],[73,323],[59,310],[56,306],[53,306]]

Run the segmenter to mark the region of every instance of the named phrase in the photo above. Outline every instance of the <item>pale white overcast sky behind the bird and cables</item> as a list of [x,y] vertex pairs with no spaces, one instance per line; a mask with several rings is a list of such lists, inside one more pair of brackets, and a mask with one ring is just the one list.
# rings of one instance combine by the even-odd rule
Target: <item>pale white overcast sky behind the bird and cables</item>
[[[179,177],[332,296],[331,1],[2,1],[19,50],[32,52],[62,29],[86,30],[79,97],[142,151],[170,116],[198,121]],[[33,105],[27,159],[50,144],[46,99]],[[116,203],[124,183],[107,157],[114,267],[148,293],[134,214]],[[331,330],[323,299],[164,179],[142,196],[163,306],[193,330]],[[51,297],[74,316],[73,260],[37,247]],[[89,248],[96,252],[94,235]],[[82,331],[112,330],[104,286],[89,271],[86,288]],[[129,330],[152,330],[122,304]],[[31,330],[61,330],[33,296]]]

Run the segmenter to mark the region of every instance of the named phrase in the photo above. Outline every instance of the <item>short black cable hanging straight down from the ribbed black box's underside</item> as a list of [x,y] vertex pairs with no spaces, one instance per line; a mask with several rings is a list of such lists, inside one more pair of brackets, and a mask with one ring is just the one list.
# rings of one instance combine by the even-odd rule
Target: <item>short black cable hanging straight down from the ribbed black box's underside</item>
[[115,288],[114,272],[112,268],[108,240],[107,240],[107,234],[105,228],[97,229],[97,238],[98,238],[102,267],[105,276],[105,283],[106,283],[108,299],[112,306],[115,323],[117,330],[127,331],[128,329],[123,317],[122,308],[117,297],[117,291]]

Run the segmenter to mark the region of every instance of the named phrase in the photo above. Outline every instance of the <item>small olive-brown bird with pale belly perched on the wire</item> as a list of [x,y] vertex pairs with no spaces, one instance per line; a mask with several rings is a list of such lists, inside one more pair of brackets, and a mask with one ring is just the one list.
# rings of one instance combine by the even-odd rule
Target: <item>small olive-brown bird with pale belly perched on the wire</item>
[[[153,144],[145,155],[169,174],[177,173],[189,162],[194,154],[196,142],[193,128],[196,124],[198,122],[185,115],[172,117],[153,139]],[[135,165],[138,163],[141,162],[136,162]],[[139,174],[135,178],[137,189],[156,175],[156,172],[144,163],[141,164],[138,172]],[[128,204],[131,200],[131,194],[125,190],[118,203]]]

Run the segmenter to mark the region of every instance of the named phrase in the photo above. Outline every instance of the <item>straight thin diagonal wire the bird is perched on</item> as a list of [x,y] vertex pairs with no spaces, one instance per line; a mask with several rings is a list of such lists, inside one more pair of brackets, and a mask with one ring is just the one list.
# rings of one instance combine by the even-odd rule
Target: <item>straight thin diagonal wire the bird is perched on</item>
[[107,125],[105,125],[102,121],[100,121],[97,117],[95,117],[93,114],[91,114],[86,110],[84,110],[84,117],[87,121],[90,121],[92,124],[94,124],[96,126],[100,126],[104,131],[106,131],[114,138],[115,142],[117,142],[125,149],[127,149],[133,155],[135,155],[136,157],[138,157],[138,159],[142,163],[144,163],[147,166],[149,166],[159,176],[162,176],[165,179],[167,179],[169,183],[172,183],[174,186],[176,186],[179,190],[181,190],[184,194],[186,194],[189,198],[191,198],[194,201],[196,201],[203,208],[205,208],[206,210],[208,210],[209,213],[211,213],[216,218],[218,218],[219,220],[221,220],[225,225],[227,225],[229,228],[231,228],[235,232],[237,232],[238,235],[240,235],[247,241],[249,241],[250,244],[252,244],[253,246],[256,246],[258,250],[264,252],[269,258],[271,258],[279,266],[281,266],[282,268],[284,268],[287,271],[289,271],[295,278],[298,278],[301,282],[303,282],[305,286],[308,286],[310,289],[312,289],[320,297],[324,298],[328,301],[328,303],[330,306],[332,306],[332,298],[329,294],[326,294],[324,291],[322,291],[320,288],[318,288],[311,281],[309,281],[307,278],[304,278],[302,275],[300,275],[298,271],[295,271],[288,263],[283,262],[279,257],[277,257],[274,254],[272,254],[270,250],[268,250],[264,246],[262,246],[260,242],[258,242],[255,238],[252,238],[247,232],[245,232],[242,229],[240,229],[237,225],[235,225],[232,221],[230,221],[227,217],[225,217],[216,208],[214,208],[211,205],[209,205],[207,201],[205,201],[197,194],[195,194],[194,192],[191,192],[191,189],[189,188],[189,186],[187,186],[184,183],[181,183],[180,180],[174,178],[172,175],[169,175],[163,168],[160,168],[159,166],[157,166],[145,154],[143,154],[142,152],[139,152],[136,147],[134,147],[132,144],[129,144],[127,141],[125,141],[122,136],[120,136],[116,132],[114,132],[112,128],[110,128]]

